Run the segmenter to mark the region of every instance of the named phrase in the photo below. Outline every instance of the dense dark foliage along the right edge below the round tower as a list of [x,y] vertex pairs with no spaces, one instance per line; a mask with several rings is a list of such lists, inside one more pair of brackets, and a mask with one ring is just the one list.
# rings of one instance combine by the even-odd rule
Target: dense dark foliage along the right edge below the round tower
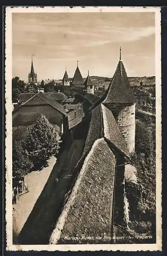
[[131,220],[151,221],[153,225],[156,206],[155,160],[155,123],[150,118],[136,120],[135,153],[131,155],[131,164],[137,170],[137,184],[127,183],[126,193]]

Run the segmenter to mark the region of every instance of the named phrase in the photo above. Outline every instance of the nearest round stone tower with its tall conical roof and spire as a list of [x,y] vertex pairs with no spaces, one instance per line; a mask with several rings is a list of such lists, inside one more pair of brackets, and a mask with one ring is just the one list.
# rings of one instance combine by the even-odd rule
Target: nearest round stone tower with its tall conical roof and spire
[[120,60],[106,91],[103,104],[112,111],[129,152],[133,152],[135,144],[135,98],[121,60],[121,48]]

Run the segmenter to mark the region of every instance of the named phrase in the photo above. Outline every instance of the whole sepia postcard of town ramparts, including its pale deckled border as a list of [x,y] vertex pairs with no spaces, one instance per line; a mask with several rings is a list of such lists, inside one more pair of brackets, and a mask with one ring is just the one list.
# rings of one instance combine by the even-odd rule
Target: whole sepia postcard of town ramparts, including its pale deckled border
[[5,18],[7,250],[161,250],[160,8]]

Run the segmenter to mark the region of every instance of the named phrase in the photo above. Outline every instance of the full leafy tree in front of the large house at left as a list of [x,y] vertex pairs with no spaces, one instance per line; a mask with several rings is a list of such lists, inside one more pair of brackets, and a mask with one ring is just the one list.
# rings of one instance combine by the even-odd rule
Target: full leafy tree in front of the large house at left
[[60,148],[60,136],[44,115],[41,115],[24,140],[24,147],[29,153],[35,168],[42,167],[46,160],[57,154]]

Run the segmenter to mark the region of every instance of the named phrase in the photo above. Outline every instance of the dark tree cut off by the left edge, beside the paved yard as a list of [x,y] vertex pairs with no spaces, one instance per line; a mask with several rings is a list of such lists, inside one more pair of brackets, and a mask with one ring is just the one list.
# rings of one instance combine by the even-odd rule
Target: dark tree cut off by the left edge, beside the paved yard
[[29,173],[33,167],[27,151],[23,149],[20,141],[12,142],[12,175],[20,180]]

